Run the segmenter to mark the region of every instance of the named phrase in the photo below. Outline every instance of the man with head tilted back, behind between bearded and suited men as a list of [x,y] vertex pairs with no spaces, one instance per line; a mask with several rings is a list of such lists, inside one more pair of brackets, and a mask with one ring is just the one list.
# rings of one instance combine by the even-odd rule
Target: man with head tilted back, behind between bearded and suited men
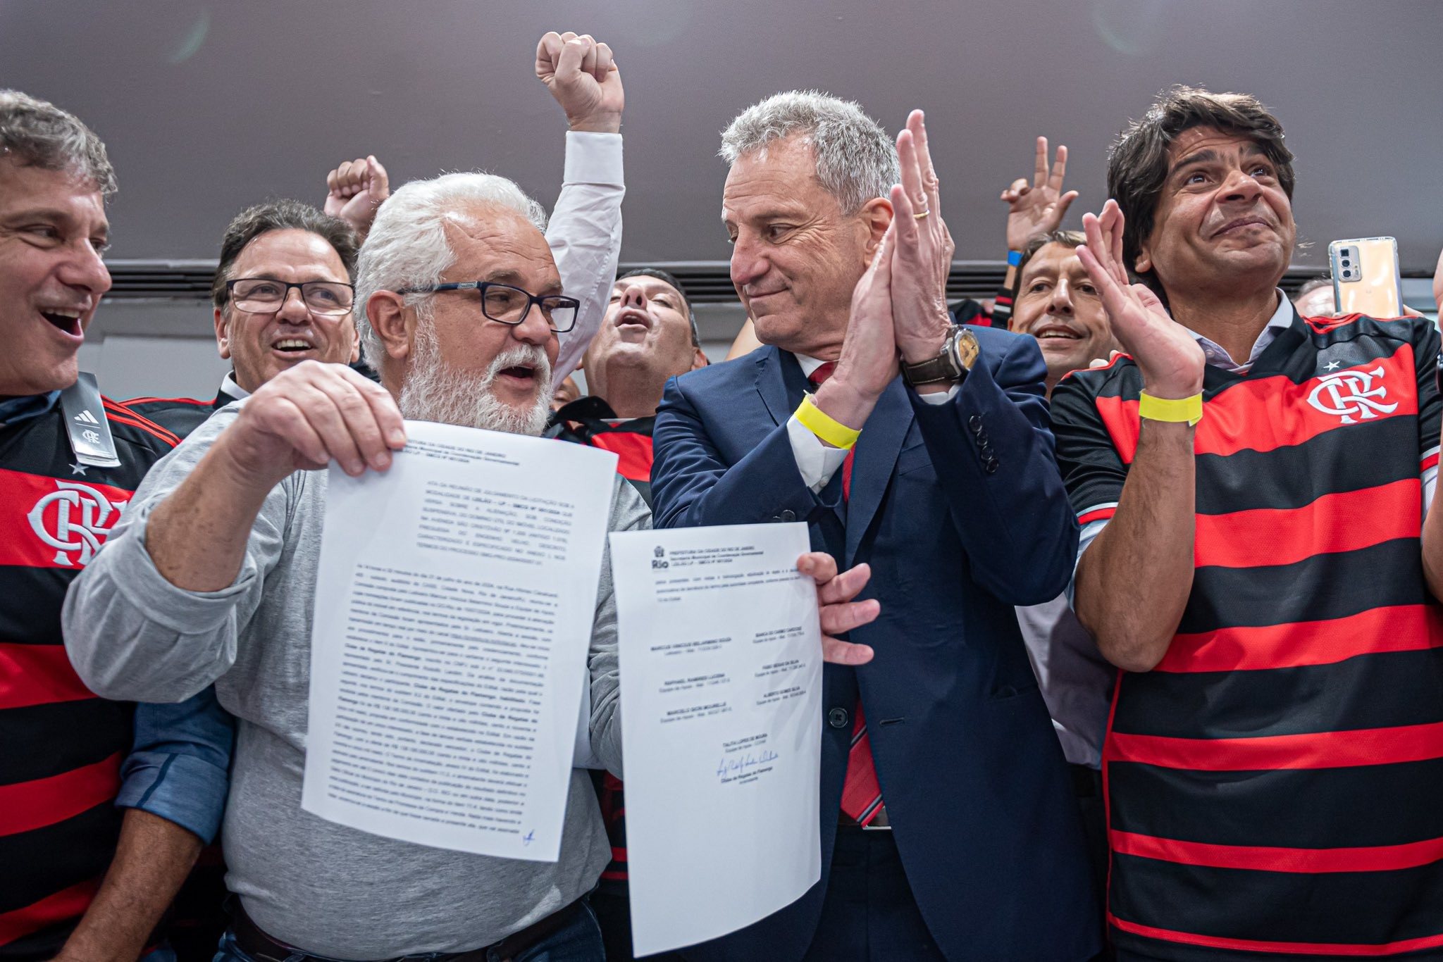
[[[592,394],[563,405],[550,434],[618,456],[616,470],[651,506],[651,428],[667,379],[704,368],[696,312],[681,281],[667,271],[639,267],[612,284],[606,317],[586,350],[586,387]],[[626,891],[626,800],[610,772],[592,770],[596,796],[612,842],[612,861],[592,893],[608,962],[631,959],[631,903]],[[658,962],[680,959],[667,952]]]

